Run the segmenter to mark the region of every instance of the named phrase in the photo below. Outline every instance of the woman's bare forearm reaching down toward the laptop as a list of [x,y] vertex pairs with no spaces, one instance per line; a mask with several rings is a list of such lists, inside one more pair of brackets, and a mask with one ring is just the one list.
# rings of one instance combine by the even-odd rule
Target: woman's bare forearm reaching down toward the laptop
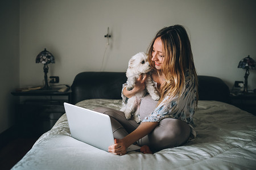
[[126,148],[149,134],[158,125],[159,122],[143,122],[141,125],[138,126],[137,129],[135,129],[132,133],[123,138]]

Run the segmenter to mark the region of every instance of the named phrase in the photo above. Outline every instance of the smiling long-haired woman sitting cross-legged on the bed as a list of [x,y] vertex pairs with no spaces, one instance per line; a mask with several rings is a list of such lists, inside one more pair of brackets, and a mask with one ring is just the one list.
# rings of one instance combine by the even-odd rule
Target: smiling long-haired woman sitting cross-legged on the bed
[[[141,100],[139,115],[141,124],[133,119],[126,120],[124,113],[110,108],[96,108],[108,114],[112,121],[115,144],[109,152],[126,154],[126,148],[137,142],[143,153],[150,150],[175,147],[195,139],[193,114],[197,105],[197,74],[193,62],[191,44],[181,25],[161,29],[148,48],[148,61],[153,68],[150,75],[159,91],[160,100],[154,101],[150,95]],[[145,88],[146,76],[140,76],[131,91],[123,86],[125,103]]]

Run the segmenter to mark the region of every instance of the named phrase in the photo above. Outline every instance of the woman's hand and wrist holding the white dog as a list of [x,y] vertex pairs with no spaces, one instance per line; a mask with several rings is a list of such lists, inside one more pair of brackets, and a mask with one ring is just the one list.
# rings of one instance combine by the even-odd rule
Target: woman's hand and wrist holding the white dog
[[147,74],[139,75],[139,78],[135,82],[135,86],[134,86],[133,90],[127,91],[126,88],[124,88],[123,89],[123,95],[125,95],[128,98],[131,98],[132,96],[134,96],[138,92],[143,91],[146,87],[145,80],[146,80],[147,76],[148,76]]

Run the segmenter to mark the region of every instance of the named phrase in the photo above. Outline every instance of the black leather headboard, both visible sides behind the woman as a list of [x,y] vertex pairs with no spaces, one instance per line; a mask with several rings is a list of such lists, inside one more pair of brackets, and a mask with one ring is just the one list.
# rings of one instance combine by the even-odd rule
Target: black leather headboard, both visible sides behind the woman
[[[217,100],[229,103],[229,88],[214,76],[199,75],[199,100]],[[82,72],[71,86],[71,102],[85,99],[122,99],[122,84],[127,80],[122,72]]]

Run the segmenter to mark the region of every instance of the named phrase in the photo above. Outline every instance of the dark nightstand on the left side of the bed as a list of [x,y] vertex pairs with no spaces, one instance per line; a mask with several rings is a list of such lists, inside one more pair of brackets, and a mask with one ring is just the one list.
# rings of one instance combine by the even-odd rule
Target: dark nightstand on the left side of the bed
[[16,126],[21,135],[42,135],[50,130],[60,116],[65,113],[63,103],[70,103],[71,91],[58,92],[59,89],[11,92],[14,96],[23,96],[24,98],[15,105]]

